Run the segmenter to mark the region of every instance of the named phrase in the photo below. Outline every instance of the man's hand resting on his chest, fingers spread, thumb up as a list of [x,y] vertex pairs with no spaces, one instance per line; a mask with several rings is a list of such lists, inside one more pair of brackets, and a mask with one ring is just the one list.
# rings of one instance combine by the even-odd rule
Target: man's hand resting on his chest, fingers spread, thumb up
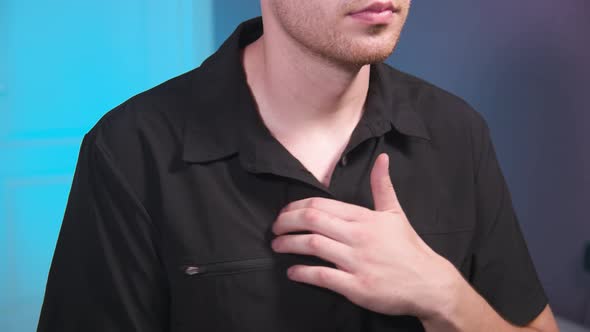
[[[386,154],[375,161],[375,210],[325,198],[288,204],[273,232],[275,251],[313,255],[337,269],[296,265],[289,278],[338,292],[388,315],[427,319],[446,308],[459,272],[414,231],[397,200]],[[310,231],[312,234],[287,234]]]

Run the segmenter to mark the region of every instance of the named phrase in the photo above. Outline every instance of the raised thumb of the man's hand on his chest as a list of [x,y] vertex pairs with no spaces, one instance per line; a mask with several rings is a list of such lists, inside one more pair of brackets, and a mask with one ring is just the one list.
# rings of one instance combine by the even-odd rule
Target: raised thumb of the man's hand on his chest
[[371,192],[376,211],[397,211],[400,206],[389,177],[389,156],[377,156],[371,170]]

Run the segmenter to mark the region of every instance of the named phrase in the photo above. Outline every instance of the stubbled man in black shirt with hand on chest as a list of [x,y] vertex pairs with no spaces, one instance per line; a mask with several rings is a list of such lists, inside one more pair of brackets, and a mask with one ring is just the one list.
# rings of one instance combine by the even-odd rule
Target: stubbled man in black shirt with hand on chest
[[484,120],[382,63],[409,7],[262,0],[103,117],[39,331],[557,331]]

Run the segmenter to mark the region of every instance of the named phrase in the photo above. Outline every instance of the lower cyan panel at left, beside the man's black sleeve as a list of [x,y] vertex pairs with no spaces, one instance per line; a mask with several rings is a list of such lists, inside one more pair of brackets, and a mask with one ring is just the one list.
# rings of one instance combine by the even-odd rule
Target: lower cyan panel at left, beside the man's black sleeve
[[[8,216],[3,266],[8,272],[0,288],[8,303],[0,305],[0,330],[33,331],[42,301],[42,281],[46,280],[52,250],[63,217],[51,197],[64,197],[71,176],[31,176],[5,183]],[[4,249],[4,248],[3,248]],[[14,328],[11,330],[10,326]]]

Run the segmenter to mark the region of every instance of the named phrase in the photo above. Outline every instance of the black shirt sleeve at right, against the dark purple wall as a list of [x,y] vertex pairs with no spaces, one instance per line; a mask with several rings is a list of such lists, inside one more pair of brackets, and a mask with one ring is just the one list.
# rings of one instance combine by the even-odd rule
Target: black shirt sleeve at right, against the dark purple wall
[[526,325],[547,305],[523,238],[489,128],[478,114],[475,137],[478,231],[471,284],[507,321]]

